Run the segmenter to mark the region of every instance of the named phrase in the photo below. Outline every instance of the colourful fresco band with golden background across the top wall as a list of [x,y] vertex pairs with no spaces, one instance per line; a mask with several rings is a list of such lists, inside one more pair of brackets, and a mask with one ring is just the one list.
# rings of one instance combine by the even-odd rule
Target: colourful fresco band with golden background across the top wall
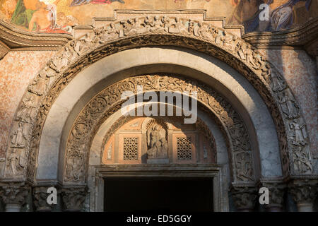
[[[227,25],[245,32],[295,28],[317,16],[318,0],[0,0],[0,18],[33,32],[71,32],[73,25],[91,25],[93,17],[111,17],[114,9],[206,9],[208,17],[226,17]],[[260,20],[261,4],[269,19]]]

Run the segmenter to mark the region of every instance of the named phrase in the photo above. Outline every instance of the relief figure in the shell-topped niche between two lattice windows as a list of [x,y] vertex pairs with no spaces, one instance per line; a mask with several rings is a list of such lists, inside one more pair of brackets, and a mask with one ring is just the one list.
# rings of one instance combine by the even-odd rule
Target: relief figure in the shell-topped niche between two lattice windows
[[147,131],[148,158],[167,158],[166,131],[159,125]]

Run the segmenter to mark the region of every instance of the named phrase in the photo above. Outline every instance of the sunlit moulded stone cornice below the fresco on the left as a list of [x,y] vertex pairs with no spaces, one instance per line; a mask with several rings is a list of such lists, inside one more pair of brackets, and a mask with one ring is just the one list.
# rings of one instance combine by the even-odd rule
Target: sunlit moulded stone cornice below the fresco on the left
[[23,50],[24,48],[57,50],[69,42],[69,40],[72,40],[72,38],[68,34],[47,34],[20,30],[0,20],[0,41],[4,42],[11,50]]

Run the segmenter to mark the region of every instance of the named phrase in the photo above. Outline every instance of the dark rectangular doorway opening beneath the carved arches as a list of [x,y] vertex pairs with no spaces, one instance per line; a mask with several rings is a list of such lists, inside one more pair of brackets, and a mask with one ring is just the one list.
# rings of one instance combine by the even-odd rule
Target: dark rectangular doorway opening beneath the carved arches
[[210,212],[212,178],[106,178],[107,212]]

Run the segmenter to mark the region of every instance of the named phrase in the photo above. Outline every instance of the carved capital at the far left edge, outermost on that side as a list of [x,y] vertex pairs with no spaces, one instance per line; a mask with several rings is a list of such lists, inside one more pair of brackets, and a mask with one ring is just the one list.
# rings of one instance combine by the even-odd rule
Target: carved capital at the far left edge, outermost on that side
[[6,212],[20,212],[21,206],[26,201],[30,186],[24,182],[2,183],[1,197],[6,205]]

